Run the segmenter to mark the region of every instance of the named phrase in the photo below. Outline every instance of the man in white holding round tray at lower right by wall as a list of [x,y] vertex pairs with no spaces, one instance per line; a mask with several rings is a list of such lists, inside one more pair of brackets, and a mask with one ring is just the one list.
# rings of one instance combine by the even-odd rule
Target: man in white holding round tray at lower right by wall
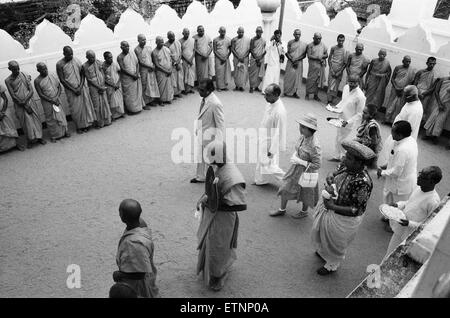
[[427,167],[419,172],[417,185],[408,201],[399,201],[392,206],[403,210],[406,218],[400,222],[390,221],[394,234],[386,252],[386,256],[420,226],[422,222],[439,206],[440,198],[435,187],[442,180],[442,171],[439,167]]

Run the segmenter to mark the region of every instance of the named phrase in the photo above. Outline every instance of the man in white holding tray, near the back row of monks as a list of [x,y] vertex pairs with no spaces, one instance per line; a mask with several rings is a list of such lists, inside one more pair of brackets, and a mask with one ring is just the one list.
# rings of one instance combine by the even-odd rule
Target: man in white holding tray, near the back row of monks
[[342,127],[337,128],[335,154],[330,161],[341,161],[345,154],[342,142],[361,124],[366,96],[359,88],[359,81],[358,76],[350,76],[348,84],[343,89],[341,102],[336,106],[327,106],[327,110],[340,113],[343,121]]

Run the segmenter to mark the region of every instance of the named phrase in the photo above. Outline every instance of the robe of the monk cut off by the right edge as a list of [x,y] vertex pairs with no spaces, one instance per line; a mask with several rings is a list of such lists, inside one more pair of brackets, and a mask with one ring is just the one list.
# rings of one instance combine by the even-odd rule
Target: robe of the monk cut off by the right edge
[[[430,117],[424,128],[427,136],[439,137],[450,113],[450,77],[439,80],[432,95]],[[439,104],[442,104],[443,109],[440,109]]]

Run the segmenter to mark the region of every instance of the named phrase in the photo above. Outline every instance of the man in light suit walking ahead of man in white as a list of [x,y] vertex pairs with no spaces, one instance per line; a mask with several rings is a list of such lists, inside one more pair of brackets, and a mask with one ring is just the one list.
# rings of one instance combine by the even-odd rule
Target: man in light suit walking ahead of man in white
[[196,151],[197,151],[197,175],[191,183],[205,182],[206,163],[203,150],[214,140],[225,140],[225,117],[223,105],[214,94],[214,82],[212,79],[203,79],[199,82],[198,92],[203,98],[200,111],[195,122]]

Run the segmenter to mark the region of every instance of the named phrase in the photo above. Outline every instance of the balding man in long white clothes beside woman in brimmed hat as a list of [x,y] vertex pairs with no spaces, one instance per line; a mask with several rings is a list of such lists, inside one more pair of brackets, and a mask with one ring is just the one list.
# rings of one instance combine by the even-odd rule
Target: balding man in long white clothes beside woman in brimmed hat
[[286,109],[280,99],[281,88],[269,85],[264,91],[267,101],[261,128],[259,129],[259,155],[255,171],[255,184],[269,183],[273,176],[281,180],[284,171],[278,166],[280,151],[286,150]]

